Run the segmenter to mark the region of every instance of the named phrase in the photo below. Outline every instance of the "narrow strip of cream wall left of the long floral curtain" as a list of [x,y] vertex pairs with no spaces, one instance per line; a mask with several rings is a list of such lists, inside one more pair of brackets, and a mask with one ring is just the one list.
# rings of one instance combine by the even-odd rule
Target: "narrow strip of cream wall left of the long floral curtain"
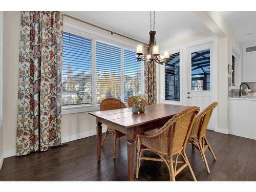
[[4,155],[15,155],[20,12],[4,11],[3,126]]

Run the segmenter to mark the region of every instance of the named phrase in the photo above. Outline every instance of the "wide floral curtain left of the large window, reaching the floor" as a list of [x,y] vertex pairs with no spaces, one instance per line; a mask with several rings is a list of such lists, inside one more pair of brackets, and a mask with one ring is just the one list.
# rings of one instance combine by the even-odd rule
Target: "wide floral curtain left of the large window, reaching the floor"
[[63,14],[22,11],[16,155],[61,143]]

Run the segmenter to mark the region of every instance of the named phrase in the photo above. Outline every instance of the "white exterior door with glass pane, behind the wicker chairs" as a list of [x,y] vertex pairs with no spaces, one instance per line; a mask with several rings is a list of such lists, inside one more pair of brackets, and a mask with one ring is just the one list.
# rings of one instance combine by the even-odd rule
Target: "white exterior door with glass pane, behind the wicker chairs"
[[[187,49],[187,90],[184,102],[203,111],[212,100],[212,42]],[[213,128],[210,120],[209,129]]]

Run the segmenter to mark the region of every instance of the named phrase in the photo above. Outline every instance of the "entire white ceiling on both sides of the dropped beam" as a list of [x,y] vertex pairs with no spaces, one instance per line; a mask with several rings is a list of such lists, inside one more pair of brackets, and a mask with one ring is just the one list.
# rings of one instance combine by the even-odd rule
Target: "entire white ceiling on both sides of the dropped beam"
[[[66,11],[114,32],[148,42],[150,11]],[[156,11],[157,45],[183,41],[209,32],[204,23],[191,11]],[[241,44],[256,40],[256,11],[220,11],[230,30]]]

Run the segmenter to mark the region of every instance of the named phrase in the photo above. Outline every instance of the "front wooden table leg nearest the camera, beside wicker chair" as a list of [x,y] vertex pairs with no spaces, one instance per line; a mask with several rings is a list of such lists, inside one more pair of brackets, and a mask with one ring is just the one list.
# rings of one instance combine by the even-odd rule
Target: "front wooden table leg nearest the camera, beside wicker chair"
[[133,181],[134,174],[135,135],[127,133],[128,181]]

